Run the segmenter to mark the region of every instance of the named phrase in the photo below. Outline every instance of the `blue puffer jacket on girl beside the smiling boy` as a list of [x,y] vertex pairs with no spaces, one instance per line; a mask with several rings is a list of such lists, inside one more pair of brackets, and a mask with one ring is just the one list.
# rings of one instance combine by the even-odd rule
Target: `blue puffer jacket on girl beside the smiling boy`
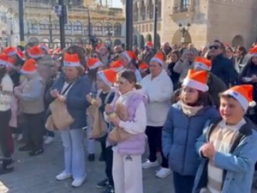
[[195,144],[211,120],[219,119],[215,107],[203,107],[196,115],[183,113],[181,102],[173,104],[168,112],[162,132],[163,154],[169,167],[181,175],[195,176],[200,164]]

